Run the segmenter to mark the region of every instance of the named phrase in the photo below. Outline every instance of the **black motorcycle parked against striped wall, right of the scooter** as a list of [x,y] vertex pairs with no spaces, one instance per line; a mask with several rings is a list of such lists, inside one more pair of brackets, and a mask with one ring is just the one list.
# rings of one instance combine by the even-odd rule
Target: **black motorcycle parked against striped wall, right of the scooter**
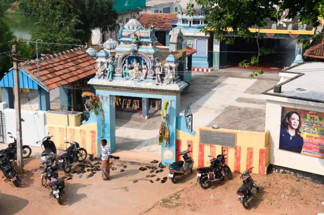
[[[224,150],[225,152],[226,150]],[[213,157],[212,155],[208,155],[208,157],[213,157],[210,160],[210,167],[197,168],[197,182],[204,190],[211,187],[212,182],[214,181],[223,181],[226,176],[229,180],[232,180],[233,175],[230,168],[226,165],[225,160],[227,158],[224,157],[227,154],[219,154],[217,157]]]

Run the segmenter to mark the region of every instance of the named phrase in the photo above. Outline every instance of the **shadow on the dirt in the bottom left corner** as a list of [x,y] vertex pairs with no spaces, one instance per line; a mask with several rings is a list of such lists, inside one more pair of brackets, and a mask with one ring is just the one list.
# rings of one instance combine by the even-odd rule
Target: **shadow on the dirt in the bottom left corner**
[[12,215],[18,213],[29,203],[28,200],[13,195],[0,195],[0,214]]

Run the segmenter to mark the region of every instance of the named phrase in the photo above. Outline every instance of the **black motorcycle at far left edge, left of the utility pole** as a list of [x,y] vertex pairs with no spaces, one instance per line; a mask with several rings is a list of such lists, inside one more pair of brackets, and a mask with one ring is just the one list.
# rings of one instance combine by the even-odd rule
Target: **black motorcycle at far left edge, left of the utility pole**
[[16,187],[19,187],[21,179],[4,153],[0,153],[0,170],[8,181],[11,181]]

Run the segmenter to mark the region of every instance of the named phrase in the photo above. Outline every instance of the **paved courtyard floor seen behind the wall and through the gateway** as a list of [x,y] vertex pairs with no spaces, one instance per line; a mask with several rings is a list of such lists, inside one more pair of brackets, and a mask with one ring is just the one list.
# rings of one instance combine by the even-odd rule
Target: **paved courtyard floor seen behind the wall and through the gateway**
[[[261,92],[279,81],[278,73],[264,73],[258,78],[249,78],[251,71],[219,70],[212,73],[194,72],[189,94],[181,94],[181,114],[191,103],[193,129],[199,126],[218,125],[224,129],[263,132],[265,126],[265,99]],[[36,111],[37,92],[29,94],[30,103],[22,94],[22,109]],[[59,108],[58,90],[51,91],[51,107]],[[31,104],[31,105],[30,105]],[[116,113],[117,152],[132,150],[160,156],[157,145],[160,115],[157,112],[149,120],[139,114]],[[130,152],[127,152],[130,153]]]

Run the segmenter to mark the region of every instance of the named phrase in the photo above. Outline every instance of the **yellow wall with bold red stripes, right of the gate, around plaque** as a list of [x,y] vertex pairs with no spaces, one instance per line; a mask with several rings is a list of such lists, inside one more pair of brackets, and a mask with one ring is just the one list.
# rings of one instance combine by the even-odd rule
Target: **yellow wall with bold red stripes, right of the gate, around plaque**
[[[181,119],[182,118],[182,119]],[[209,167],[210,158],[218,154],[227,154],[226,163],[232,172],[244,172],[254,167],[252,170],[255,174],[266,174],[266,168],[269,165],[269,132],[249,132],[238,130],[226,130],[199,127],[199,129],[212,130],[215,132],[236,132],[236,148],[228,148],[220,145],[200,144],[199,129],[198,132],[190,132],[185,126],[185,118],[181,116],[177,124],[177,149],[179,151],[187,150],[191,144],[192,158],[194,167]],[[181,123],[182,121],[182,123]],[[180,125],[181,124],[181,125]],[[180,128],[180,129],[179,129]],[[223,152],[223,150],[226,150]],[[176,156],[178,160],[181,156]]]

